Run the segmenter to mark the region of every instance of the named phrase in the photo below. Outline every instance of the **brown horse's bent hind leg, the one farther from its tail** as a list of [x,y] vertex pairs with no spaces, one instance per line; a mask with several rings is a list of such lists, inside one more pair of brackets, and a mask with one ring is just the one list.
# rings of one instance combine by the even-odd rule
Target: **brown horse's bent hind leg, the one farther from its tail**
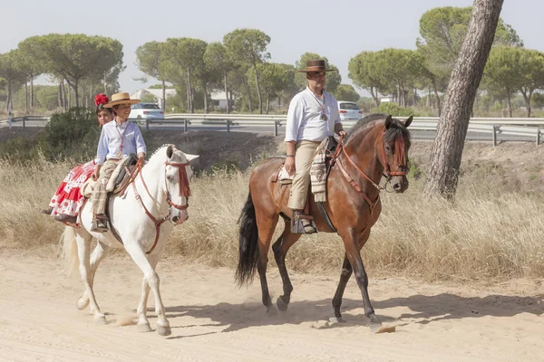
[[272,250],[274,251],[274,258],[276,259],[277,269],[279,269],[279,275],[281,275],[281,281],[283,282],[283,295],[277,297],[277,309],[286,311],[289,302],[291,301],[291,292],[293,291],[293,285],[289,279],[289,274],[287,273],[286,267],[286,256],[287,251],[294,243],[300,238],[300,233],[291,233],[291,223],[290,221],[285,221],[286,227],[284,232],[279,238],[277,238],[276,243],[272,245]]

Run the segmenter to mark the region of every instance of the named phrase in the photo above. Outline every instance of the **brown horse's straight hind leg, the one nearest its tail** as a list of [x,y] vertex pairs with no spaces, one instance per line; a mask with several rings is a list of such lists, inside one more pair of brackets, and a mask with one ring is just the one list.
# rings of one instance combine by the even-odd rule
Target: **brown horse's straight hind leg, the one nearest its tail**
[[261,292],[263,298],[263,304],[267,307],[267,312],[273,311],[274,304],[270,298],[267,282],[267,262],[268,262],[268,249],[270,248],[270,240],[276,230],[277,219],[279,215],[276,214],[272,217],[258,217],[257,216],[257,229],[258,229],[258,261],[257,271],[261,282]]

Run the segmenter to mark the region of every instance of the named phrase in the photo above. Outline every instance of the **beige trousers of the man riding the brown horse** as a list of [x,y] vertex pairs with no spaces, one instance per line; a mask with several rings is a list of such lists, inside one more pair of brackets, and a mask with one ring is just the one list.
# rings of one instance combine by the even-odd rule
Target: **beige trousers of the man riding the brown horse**
[[296,173],[291,185],[291,194],[287,207],[295,210],[303,210],[306,205],[308,189],[310,188],[310,169],[316,155],[316,149],[321,142],[308,141],[306,139],[296,141],[295,168]]

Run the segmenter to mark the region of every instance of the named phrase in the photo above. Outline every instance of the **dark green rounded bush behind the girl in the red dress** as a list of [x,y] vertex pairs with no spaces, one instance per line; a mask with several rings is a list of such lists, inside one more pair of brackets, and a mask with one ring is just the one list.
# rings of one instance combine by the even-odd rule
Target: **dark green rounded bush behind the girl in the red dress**
[[37,147],[49,159],[87,159],[96,154],[100,132],[94,111],[73,108],[53,114],[38,137]]

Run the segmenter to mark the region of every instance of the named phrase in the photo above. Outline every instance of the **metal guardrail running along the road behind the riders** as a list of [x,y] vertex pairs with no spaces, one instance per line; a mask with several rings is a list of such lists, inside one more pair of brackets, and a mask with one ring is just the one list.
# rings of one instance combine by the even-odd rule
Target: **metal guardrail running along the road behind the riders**
[[[403,117],[399,117],[403,119]],[[12,119],[12,124],[23,122],[25,127],[43,127],[49,121],[49,117],[24,116]],[[285,126],[287,115],[266,115],[266,114],[199,114],[199,113],[174,113],[166,115],[164,119],[130,119],[141,127],[150,129],[150,126],[157,124],[183,125],[183,130],[188,131],[189,126],[221,126],[227,132],[233,126],[256,126],[274,128],[274,134],[279,134],[279,128]],[[27,125],[27,121],[34,121],[38,124]],[[410,129],[422,131],[435,131],[438,125],[438,117],[415,117]],[[352,128],[357,120],[345,120],[345,129]],[[0,120],[0,128],[6,127],[8,120]],[[272,129],[270,129],[272,131]],[[469,123],[469,131],[490,134],[493,146],[498,143],[499,135],[509,135],[524,138],[533,138],[537,145],[544,135],[544,119],[513,118],[472,118]]]

